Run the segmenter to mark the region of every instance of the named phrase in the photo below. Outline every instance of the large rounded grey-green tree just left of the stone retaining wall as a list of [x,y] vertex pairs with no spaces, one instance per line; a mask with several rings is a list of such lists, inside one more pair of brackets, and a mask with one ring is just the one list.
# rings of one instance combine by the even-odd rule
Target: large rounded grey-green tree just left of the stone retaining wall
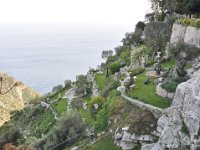
[[158,51],[164,51],[170,39],[170,26],[163,22],[149,22],[145,29],[145,43],[153,50],[152,59]]

